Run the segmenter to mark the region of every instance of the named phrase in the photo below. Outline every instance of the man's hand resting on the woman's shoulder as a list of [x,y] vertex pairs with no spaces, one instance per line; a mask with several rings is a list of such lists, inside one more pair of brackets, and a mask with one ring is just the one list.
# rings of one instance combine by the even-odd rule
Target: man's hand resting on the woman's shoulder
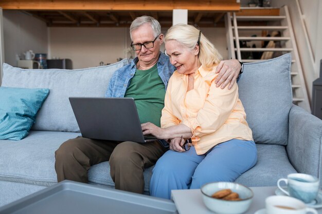
[[230,89],[237,80],[241,69],[241,65],[238,60],[223,60],[219,63],[216,69],[216,73],[219,73],[216,77],[216,87],[221,86],[224,89],[228,83],[228,89]]

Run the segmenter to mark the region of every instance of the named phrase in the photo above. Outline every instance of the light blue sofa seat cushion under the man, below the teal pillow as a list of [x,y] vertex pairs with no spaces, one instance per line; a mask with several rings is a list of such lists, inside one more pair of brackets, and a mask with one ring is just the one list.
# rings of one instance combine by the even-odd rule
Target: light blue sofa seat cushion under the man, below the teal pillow
[[[40,186],[57,183],[55,151],[68,139],[80,133],[60,131],[30,131],[21,141],[1,140],[0,181]],[[12,155],[15,154],[15,155]],[[152,168],[145,170],[145,191],[149,191]],[[94,165],[88,171],[91,183],[114,187],[109,162]]]

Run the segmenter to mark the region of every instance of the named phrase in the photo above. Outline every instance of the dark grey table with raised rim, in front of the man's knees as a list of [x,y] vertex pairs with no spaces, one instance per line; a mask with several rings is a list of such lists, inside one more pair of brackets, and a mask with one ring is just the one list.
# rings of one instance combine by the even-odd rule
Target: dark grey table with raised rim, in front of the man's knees
[[116,189],[63,181],[0,207],[0,213],[177,213],[174,203]]

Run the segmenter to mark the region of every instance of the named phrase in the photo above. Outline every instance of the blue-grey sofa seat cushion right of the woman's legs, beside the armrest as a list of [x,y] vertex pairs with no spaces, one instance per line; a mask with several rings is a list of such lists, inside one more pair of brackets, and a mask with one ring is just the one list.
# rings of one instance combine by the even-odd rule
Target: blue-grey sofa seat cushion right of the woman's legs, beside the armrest
[[277,180],[297,171],[290,164],[285,146],[256,144],[257,163],[235,182],[246,186],[276,186]]

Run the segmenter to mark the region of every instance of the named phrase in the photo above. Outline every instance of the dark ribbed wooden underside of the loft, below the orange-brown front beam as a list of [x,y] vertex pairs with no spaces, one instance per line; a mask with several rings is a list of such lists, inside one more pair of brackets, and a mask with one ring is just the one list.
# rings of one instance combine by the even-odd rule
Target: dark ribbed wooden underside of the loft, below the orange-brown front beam
[[[30,11],[26,13],[47,23],[48,27],[130,27],[138,16],[149,15],[156,18],[161,26],[172,25],[172,11]],[[200,27],[223,25],[225,13],[188,12],[188,24]]]

